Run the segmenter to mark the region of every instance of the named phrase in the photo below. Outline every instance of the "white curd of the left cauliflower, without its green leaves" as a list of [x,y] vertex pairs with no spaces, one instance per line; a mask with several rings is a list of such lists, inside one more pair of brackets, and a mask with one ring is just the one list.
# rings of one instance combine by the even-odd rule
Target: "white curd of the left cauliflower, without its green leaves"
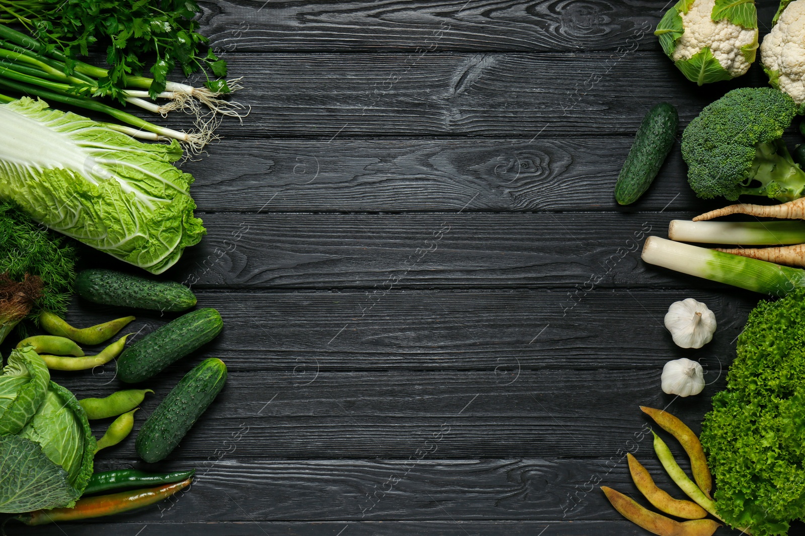
[[[803,0],[797,0],[802,2]],[[751,45],[758,38],[758,29],[747,30],[729,22],[726,18],[712,20],[716,0],[697,0],[687,13],[680,13],[685,32],[676,42],[674,61],[691,59],[704,47],[710,47],[712,55],[721,67],[733,76],[741,76],[752,63],[746,60],[741,47]]]

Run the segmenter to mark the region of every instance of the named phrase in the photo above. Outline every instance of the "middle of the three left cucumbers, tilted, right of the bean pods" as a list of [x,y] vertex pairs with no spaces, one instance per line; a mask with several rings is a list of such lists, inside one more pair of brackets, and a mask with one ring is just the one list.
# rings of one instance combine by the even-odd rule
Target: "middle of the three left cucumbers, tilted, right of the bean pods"
[[142,382],[216,338],[224,327],[215,309],[196,309],[123,350],[118,358],[118,378]]

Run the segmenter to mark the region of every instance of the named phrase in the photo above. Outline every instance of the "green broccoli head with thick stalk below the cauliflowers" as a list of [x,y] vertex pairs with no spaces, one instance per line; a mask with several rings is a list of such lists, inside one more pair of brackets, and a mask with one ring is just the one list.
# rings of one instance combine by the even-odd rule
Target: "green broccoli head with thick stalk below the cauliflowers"
[[805,171],[782,139],[797,113],[774,88],[740,88],[706,106],[682,135],[687,181],[700,198],[741,194],[792,201],[805,195]]

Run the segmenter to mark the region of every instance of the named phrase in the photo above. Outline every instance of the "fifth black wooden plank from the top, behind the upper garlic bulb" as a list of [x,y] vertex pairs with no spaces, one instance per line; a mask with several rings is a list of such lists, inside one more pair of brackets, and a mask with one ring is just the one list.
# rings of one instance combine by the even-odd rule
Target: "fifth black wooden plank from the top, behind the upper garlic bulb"
[[[668,306],[691,295],[708,304],[719,322],[712,342],[701,350],[679,349],[663,325]],[[283,385],[304,387],[316,373],[326,371],[379,370],[386,374],[427,370],[444,374],[477,370],[486,375],[459,374],[455,378],[494,390],[504,387],[500,383],[508,383],[510,370],[539,377],[547,374],[546,370],[559,374],[562,370],[597,368],[613,368],[625,374],[625,368],[636,366],[648,382],[630,391],[639,394],[636,398],[648,392],[658,394],[642,389],[655,380],[657,367],[667,360],[704,358],[713,370],[717,369],[716,357],[728,362],[734,353],[734,338],[758,300],[749,293],[691,293],[689,289],[602,289],[580,297],[575,306],[568,306],[567,293],[545,290],[393,291],[379,297],[374,305],[366,305],[366,294],[361,292],[201,291],[198,296],[200,306],[221,311],[226,326],[205,346],[203,354],[224,358],[239,378],[263,374],[248,381],[259,379],[270,385],[272,390],[266,395],[274,395]],[[83,302],[77,305],[81,307],[74,307],[68,315],[75,325],[93,325],[123,313],[119,308]],[[139,332],[139,336],[169,319],[159,317],[159,313],[137,314],[138,320],[127,329]],[[185,359],[171,369],[172,375],[152,384],[159,388],[172,385],[180,377],[175,374],[183,374],[180,371],[199,358]],[[95,374],[101,372],[96,370]],[[114,368],[110,366],[106,372],[110,379]],[[88,371],[54,377],[84,393],[89,385],[103,383],[91,376]],[[384,381],[390,380],[386,377]],[[580,384],[570,379],[566,382],[570,383],[559,385],[580,390]],[[539,385],[547,388],[543,382]],[[250,383],[247,391],[252,386]],[[448,399],[460,409],[460,400],[464,400],[460,395],[465,390],[456,389],[459,395],[452,393]],[[302,411],[295,415],[309,414]]]

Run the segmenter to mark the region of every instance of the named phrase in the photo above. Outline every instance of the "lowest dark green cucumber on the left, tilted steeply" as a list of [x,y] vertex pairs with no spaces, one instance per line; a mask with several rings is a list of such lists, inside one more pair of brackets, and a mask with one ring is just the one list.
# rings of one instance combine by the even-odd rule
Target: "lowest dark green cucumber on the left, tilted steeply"
[[218,358],[204,359],[185,374],[142,424],[134,442],[139,456],[152,464],[170,454],[225,382],[226,365]]

